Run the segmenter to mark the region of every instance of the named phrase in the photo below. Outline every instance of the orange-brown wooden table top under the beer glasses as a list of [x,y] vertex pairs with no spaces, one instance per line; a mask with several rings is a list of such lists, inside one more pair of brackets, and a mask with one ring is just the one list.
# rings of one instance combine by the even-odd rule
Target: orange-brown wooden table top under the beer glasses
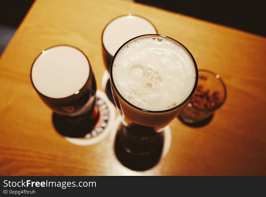
[[[77,146],[55,132],[52,111],[30,81],[36,56],[69,44],[85,52],[101,88],[101,33],[122,14],[148,18],[158,33],[183,43],[225,81],[225,104],[206,126],[171,124],[168,154],[153,168],[133,171],[115,157],[110,136]],[[0,60],[1,175],[266,175],[266,39],[128,1],[34,3]]]

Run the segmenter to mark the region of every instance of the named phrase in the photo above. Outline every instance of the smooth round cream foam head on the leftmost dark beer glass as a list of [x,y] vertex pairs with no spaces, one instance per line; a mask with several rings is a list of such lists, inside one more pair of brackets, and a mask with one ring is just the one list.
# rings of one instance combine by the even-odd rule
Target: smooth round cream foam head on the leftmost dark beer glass
[[31,78],[36,89],[51,98],[77,94],[89,77],[86,56],[71,46],[55,46],[35,60]]

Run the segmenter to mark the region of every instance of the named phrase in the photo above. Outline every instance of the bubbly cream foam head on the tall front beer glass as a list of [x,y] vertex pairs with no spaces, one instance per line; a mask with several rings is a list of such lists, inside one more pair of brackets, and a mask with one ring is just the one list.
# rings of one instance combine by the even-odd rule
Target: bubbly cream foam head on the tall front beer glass
[[188,52],[157,35],[141,37],[124,46],[115,56],[112,76],[128,102],[152,111],[182,103],[196,81],[194,62]]

